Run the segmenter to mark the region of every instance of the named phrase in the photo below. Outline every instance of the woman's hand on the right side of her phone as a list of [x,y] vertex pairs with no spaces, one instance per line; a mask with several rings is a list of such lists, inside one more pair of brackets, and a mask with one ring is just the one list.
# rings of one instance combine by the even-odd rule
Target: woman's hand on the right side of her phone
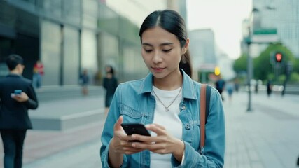
[[172,153],[176,160],[181,161],[185,144],[181,139],[172,137],[167,133],[165,127],[158,124],[146,125],[146,129],[151,130],[157,134],[157,137],[146,137],[139,134],[132,134],[132,139],[142,142],[133,142],[132,146],[137,149],[147,149],[154,153],[167,154]]

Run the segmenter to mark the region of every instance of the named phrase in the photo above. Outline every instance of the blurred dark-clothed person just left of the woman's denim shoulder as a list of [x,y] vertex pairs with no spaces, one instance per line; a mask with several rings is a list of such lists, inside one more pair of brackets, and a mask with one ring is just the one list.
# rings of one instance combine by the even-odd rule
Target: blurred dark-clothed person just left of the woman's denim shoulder
[[107,115],[109,111],[109,106],[113,99],[113,95],[116,92],[116,87],[118,87],[118,80],[114,76],[114,69],[112,66],[107,65],[105,67],[106,76],[103,79],[103,87],[106,90],[105,95],[105,114]]

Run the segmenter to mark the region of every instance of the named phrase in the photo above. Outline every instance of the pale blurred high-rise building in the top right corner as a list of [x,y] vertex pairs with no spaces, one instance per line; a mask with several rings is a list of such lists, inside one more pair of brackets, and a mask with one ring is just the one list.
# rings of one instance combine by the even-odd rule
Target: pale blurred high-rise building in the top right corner
[[299,57],[299,1],[253,0],[253,8],[259,15],[256,26],[276,28],[281,43]]

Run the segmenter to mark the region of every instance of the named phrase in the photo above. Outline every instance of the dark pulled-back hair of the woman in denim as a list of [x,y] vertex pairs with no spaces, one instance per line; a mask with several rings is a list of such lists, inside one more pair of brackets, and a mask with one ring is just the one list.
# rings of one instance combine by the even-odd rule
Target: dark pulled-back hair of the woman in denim
[[[161,27],[169,33],[176,35],[176,38],[178,38],[181,44],[181,48],[183,48],[183,46],[186,44],[188,36],[185,21],[176,11],[156,10],[148,15],[140,27],[139,36],[141,43],[141,36],[144,31],[156,26]],[[179,68],[183,69],[183,71],[185,71],[188,76],[192,77],[192,66],[190,61],[190,53],[187,50],[186,53],[181,57]]]

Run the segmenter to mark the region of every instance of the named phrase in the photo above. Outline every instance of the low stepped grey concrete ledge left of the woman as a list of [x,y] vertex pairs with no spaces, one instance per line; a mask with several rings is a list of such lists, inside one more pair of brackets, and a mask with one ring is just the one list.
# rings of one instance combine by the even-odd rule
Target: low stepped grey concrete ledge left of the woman
[[38,90],[39,108],[29,111],[34,130],[69,130],[105,118],[104,90],[90,87],[88,96],[81,87],[56,87]]

